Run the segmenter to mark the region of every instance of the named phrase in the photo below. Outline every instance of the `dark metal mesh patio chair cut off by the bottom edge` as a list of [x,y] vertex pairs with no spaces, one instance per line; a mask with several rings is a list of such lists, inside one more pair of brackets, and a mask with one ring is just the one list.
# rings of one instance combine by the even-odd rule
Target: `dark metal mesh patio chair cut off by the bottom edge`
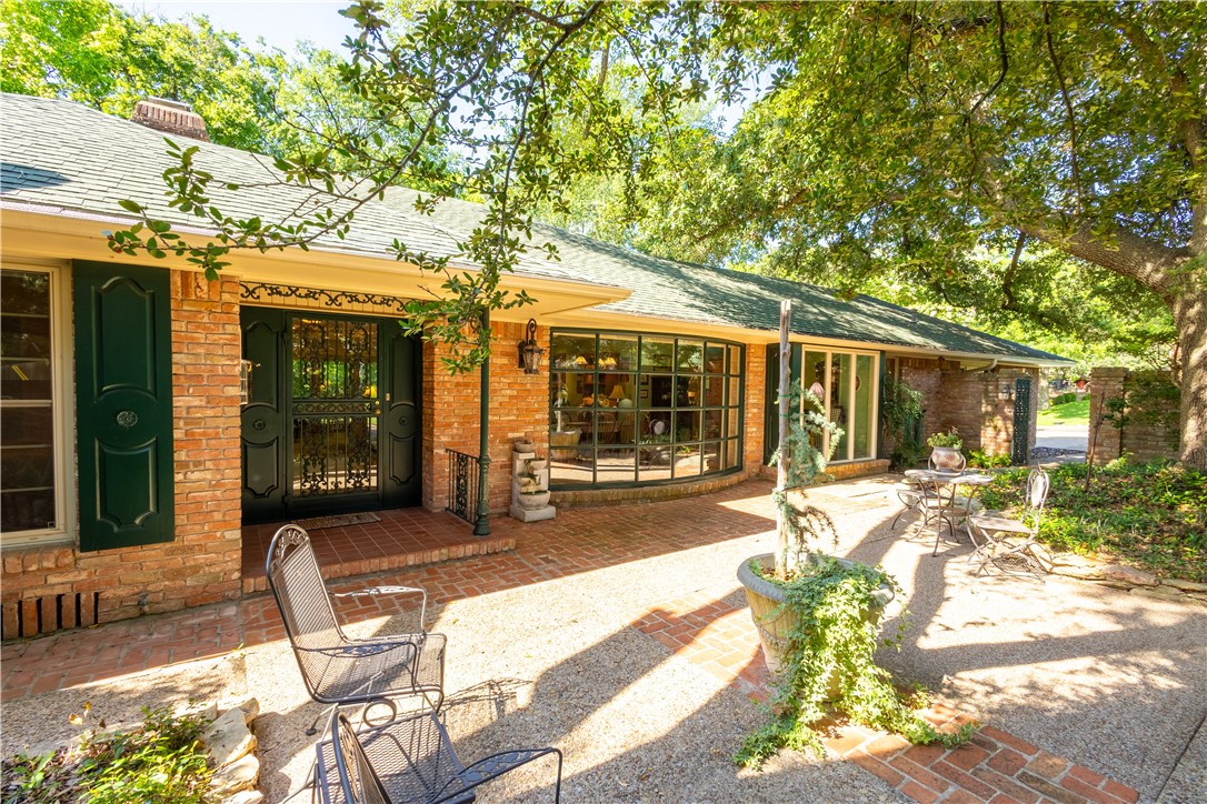
[[561,800],[561,751],[515,749],[462,765],[433,711],[361,730],[342,712],[331,718],[330,740],[316,746],[317,790],[323,804],[472,802],[474,790],[541,757],[558,758],[553,800]]

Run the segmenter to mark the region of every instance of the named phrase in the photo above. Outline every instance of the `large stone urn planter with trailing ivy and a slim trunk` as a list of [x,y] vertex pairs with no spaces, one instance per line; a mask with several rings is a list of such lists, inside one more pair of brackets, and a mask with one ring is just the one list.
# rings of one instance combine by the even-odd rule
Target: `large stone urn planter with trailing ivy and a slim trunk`
[[[801,411],[800,399],[807,410],[786,415]],[[776,692],[768,722],[746,738],[735,762],[758,768],[785,747],[810,746],[821,753],[817,724],[832,710],[917,744],[967,740],[973,724],[956,734],[939,733],[910,708],[888,671],[875,664],[881,612],[900,588],[879,568],[820,552],[827,536],[836,544],[833,522],[803,499],[793,504],[789,494],[824,470],[826,456],[814,442],[829,434],[834,444],[841,430],[826,421],[821,400],[799,383],[791,387],[786,403],[780,406],[782,430],[775,456],[780,482],[772,492],[776,552],[742,562],[737,573]],[[903,612],[888,644],[899,644],[904,621]]]

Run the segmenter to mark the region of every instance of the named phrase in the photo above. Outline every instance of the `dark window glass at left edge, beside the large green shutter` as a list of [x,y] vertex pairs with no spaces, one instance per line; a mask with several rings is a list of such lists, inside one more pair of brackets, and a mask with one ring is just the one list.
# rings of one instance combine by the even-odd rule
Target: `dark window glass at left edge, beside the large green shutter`
[[57,524],[52,356],[51,275],[0,271],[0,530],[5,533]]

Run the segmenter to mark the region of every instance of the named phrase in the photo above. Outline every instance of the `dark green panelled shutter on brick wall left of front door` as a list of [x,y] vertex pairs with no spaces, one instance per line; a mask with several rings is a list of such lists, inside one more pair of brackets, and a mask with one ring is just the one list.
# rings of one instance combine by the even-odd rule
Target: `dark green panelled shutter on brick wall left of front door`
[[171,541],[169,274],[75,263],[80,550]]

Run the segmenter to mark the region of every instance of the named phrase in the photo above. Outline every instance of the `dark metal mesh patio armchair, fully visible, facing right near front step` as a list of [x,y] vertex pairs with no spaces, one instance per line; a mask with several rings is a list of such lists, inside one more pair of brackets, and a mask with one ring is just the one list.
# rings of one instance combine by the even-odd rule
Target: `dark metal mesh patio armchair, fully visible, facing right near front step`
[[[427,593],[404,586],[378,586],[336,594],[338,598],[419,594],[419,630],[354,639],[344,633],[319,573],[310,536],[296,524],[276,532],[268,547],[268,585],[285,622],[302,680],[310,697],[337,709],[342,705],[384,706],[392,717],[397,702],[439,711],[444,703],[443,634],[422,630]],[[320,715],[319,717],[322,717]],[[315,718],[317,723],[319,718]],[[311,724],[308,734],[316,732]]]

